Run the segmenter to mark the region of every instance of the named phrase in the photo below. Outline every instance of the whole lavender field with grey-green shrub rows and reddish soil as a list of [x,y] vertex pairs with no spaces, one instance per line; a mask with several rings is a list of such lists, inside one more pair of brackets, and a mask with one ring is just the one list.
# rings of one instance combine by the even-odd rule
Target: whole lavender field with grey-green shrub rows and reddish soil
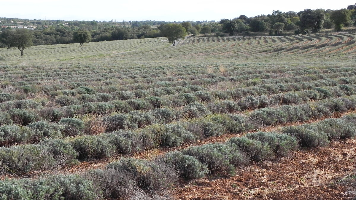
[[0,197],[352,198],[355,51],[354,33],[2,48]]

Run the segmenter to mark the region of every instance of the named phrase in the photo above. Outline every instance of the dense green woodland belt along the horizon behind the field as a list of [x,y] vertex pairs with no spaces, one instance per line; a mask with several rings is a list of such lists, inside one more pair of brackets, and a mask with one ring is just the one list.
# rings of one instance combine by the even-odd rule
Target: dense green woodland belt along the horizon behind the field
[[[164,37],[161,30],[166,23],[179,23],[192,36],[225,35],[291,35],[316,33],[323,29],[341,31],[344,26],[356,25],[356,6],[347,9],[323,10],[305,9],[300,12],[273,11],[272,14],[247,17],[240,15],[234,19],[215,21],[61,21],[27,20],[0,17],[1,31],[27,28],[33,31],[33,45],[74,43],[75,31],[89,31],[91,42],[128,40],[137,38]],[[7,47],[5,36],[0,35],[0,47]]]

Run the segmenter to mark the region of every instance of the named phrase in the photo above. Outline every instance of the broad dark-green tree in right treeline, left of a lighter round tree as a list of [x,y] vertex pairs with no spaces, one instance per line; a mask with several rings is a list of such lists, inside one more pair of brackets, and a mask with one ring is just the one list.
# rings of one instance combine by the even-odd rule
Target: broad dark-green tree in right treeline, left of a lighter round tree
[[310,10],[298,12],[299,15],[299,27],[302,31],[307,28],[311,28],[313,33],[317,33],[323,28],[325,21],[325,13],[323,9]]

